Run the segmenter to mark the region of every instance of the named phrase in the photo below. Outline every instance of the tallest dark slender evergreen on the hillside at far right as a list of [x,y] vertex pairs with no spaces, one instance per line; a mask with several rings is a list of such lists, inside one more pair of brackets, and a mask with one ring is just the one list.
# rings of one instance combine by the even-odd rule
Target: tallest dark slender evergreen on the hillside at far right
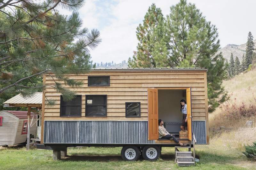
[[252,32],[249,32],[247,37],[246,53],[245,53],[246,69],[249,67],[250,64],[252,64],[253,51],[254,51],[253,36],[252,36]]

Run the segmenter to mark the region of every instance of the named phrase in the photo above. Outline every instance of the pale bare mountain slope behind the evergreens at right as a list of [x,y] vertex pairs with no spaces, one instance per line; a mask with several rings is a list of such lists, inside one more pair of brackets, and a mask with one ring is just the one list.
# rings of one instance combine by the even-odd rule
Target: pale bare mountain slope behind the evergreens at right
[[[255,49],[256,49],[256,39],[253,41],[255,44]],[[241,44],[241,45],[236,45],[236,44],[228,44],[227,46],[221,48],[219,52],[222,52],[222,55],[225,59],[229,61],[231,53],[233,53],[234,57],[238,57],[238,59],[242,60],[243,54],[245,54],[246,50],[246,43]]]

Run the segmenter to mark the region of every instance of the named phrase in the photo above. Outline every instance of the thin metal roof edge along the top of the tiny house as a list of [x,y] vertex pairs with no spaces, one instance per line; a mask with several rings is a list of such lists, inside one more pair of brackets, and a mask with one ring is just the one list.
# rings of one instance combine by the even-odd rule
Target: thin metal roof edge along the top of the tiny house
[[92,68],[90,71],[207,71],[207,68]]

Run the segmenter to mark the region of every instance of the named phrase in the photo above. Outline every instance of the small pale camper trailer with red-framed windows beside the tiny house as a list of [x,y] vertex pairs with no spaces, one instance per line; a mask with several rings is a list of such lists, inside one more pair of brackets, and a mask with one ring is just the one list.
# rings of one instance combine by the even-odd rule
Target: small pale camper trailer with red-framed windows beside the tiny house
[[[27,113],[28,111],[0,110],[0,146],[26,142],[28,132]],[[31,118],[33,119],[32,115]],[[36,115],[31,123],[36,123]],[[30,134],[36,136],[36,126],[31,127]]]

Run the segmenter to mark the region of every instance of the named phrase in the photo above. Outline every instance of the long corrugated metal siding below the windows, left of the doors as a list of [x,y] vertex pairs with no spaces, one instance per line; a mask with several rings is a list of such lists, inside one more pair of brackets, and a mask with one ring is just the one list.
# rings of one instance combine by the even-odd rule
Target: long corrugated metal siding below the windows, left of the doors
[[147,121],[45,121],[44,143],[154,144]]

